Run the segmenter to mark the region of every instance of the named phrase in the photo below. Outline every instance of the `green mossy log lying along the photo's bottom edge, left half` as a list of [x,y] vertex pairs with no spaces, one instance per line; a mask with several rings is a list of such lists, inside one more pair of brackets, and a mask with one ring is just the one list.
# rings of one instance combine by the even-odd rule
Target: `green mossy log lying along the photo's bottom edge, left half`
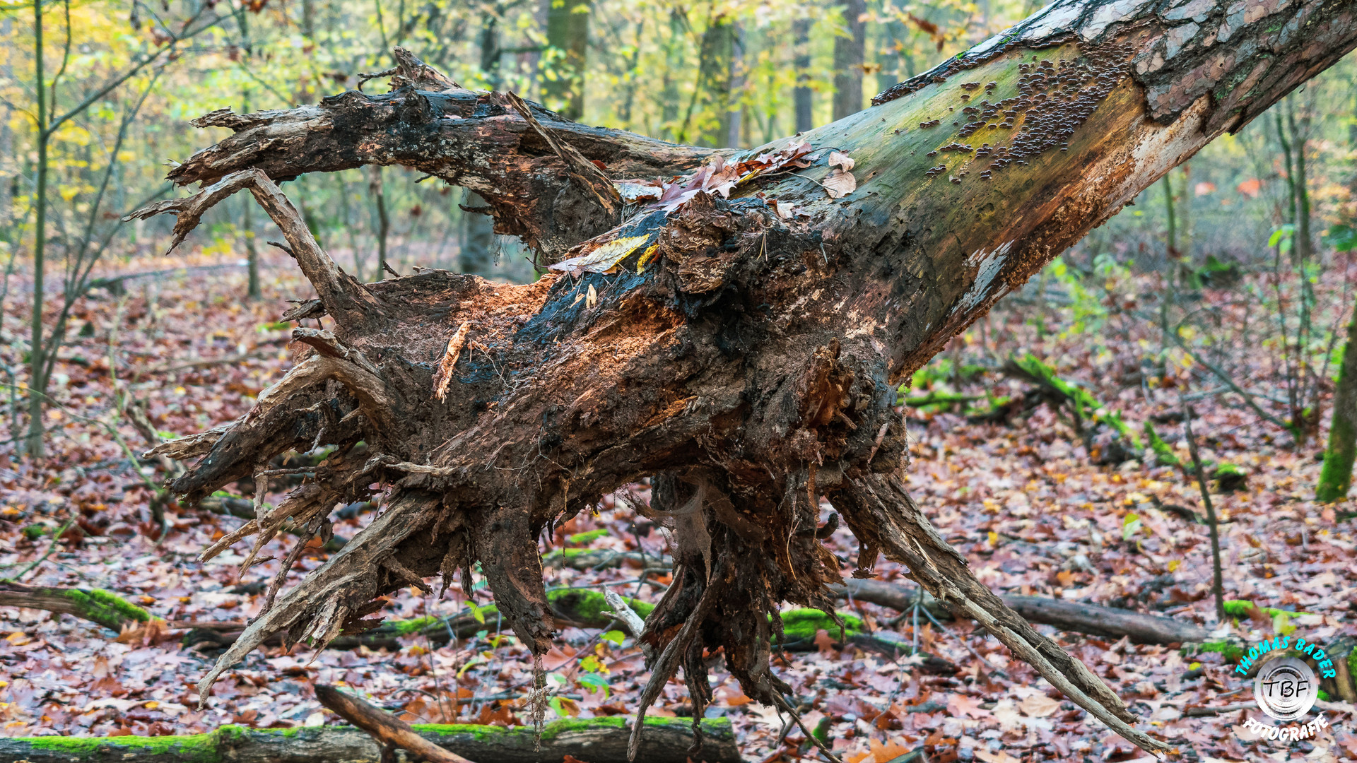
[[[533,749],[531,726],[414,725],[422,740],[457,749],[476,763],[626,763],[630,721],[622,715],[563,720],[546,725],[541,749]],[[740,763],[729,718],[702,721],[703,747],[693,760]],[[687,763],[692,744],[689,718],[646,718],[638,760]],[[0,739],[0,760],[28,763],[377,763],[381,748],[353,726],[251,729],[221,726],[205,734],[160,737],[12,737]]]

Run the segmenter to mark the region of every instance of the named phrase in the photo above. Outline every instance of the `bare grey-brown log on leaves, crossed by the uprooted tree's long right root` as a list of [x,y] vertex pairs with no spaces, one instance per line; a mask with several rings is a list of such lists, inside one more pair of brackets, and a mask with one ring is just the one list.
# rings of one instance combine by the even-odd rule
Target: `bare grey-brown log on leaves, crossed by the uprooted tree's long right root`
[[[881,580],[844,581],[835,589],[844,599],[858,599],[882,607],[905,611],[913,607],[917,589],[909,591]],[[1004,604],[1022,615],[1027,622],[1056,626],[1060,630],[1105,635],[1109,638],[1129,637],[1136,644],[1190,644],[1206,641],[1210,633],[1197,623],[1183,622],[1160,615],[1147,615],[1118,607],[1063,601],[1046,596],[1000,596]],[[923,606],[935,618],[950,618],[951,612],[940,601],[924,593]]]

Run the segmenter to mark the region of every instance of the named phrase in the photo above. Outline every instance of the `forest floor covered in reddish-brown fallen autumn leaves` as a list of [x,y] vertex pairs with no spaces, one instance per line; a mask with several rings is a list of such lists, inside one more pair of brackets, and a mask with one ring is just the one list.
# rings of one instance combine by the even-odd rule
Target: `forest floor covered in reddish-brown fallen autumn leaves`
[[[117,384],[147,406],[156,429],[183,436],[236,418],[288,367],[290,326],[274,322],[288,299],[308,296],[300,278],[285,259],[270,261],[263,270],[266,299],[251,303],[244,299],[244,269],[210,267],[220,262],[201,254],[122,262],[117,273],[186,270],[129,280],[121,296],[100,289],[77,304],[72,341],[61,352],[50,390],[56,402],[47,413],[50,458],[19,460],[14,443],[0,445],[0,574],[16,574],[50,551],[23,582],[109,589],[167,619],[239,620],[258,612],[263,596],[258,587],[244,584],[271,578],[280,562],[265,562],[242,576],[236,567],[242,546],[198,563],[201,548],[244,520],[195,508],[171,506],[170,529],[156,540],[151,485],[164,474],[157,464],[129,459],[147,440],[118,417],[114,403]],[[1151,292],[1152,277],[1141,278],[1139,291]],[[0,353],[11,367],[22,362],[15,339],[27,322],[28,295],[22,286],[23,281],[11,278],[0,326]],[[1046,322],[1039,330],[1031,326],[1033,315]],[[1022,395],[1031,384],[997,369],[1004,358],[1030,352],[1063,379],[1121,409],[1134,430],[1158,417],[1163,437],[1186,459],[1183,428],[1175,422],[1179,395],[1185,384],[1206,384],[1189,368],[1170,371],[1178,388],[1163,383],[1151,388],[1139,373],[1128,380],[1126,369],[1139,369],[1145,343],[1158,339],[1134,330],[1096,337],[1063,333],[1069,327],[1058,324],[1061,315],[1039,305],[1000,305],[988,323],[992,329],[977,326],[958,349],[962,365],[984,368],[955,383],[940,372],[925,375],[921,387]],[[989,339],[988,348],[981,337]],[[993,422],[974,422],[939,406],[911,410],[909,485],[942,535],[1000,592],[1167,614],[1246,642],[1272,635],[1273,623],[1299,627],[1297,634],[1320,644],[1357,634],[1350,610],[1357,606],[1353,506],[1312,501],[1322,440],[1297,449],[1288,434],[1228,396],[1208,395],[1193,405],[1204,458],[1234,463],[1246,474],[1238,490],[1212,496],[1221,519],[1225,597],[1307,614],[1265,626],[1247,618],[1217,623],[1209,596],[1208,528],[1167,508],[1202,516],[1196,481],[1179,468],[1155,466],[1148,453],[1114,466],[1092,463],[1069,420],[1050,405]],[[270,502],[284,486],[274,489],[266,498]],[[645,486],[608,497],[596,513],[562,528],[555,544],[662,555],[665,535],[628,504],[645,498]],[[829,513],[825,505],[822,519]],[[335,532],[351,536],[370,519],[370,512],[358,513],[338,521]],[[53,544],[52,529],[68,520],[76,524]],[[290,538],[274,540],[261,557],[281,558],[285,542]],[[856,543],[845,529],[826,543],[847,574]],[[294,566],[293,580],[324,562],[324,553],[313,551]],[[878,572],[883,580],[912,585],[894,563],[883,562]],[[658,600],[666,577],[650,576],[645,582],[639,574],[627,567],[551,569],[548,585],[609,585]],[[411,589],[394,596],[385,615],[451,615],[464,608],[456,587],[442,599]],[[931,676],[908,657],[840,652],[836,634],[817,638],[817,652],[778,660],[778,675],[810,703],[806,722],[811,728],[824,722],[845,760],[885,763],[919,745],[942,762],[1143,756],[969,622],[944,622],[940,629],[924,619],[915,634],[915,622],[897,622],[893,610],[863,603],[844,610],[868,627],[917,638],[923,649],[961,667],[955,676]],[[1082,657],[1141,715],[1144,728],[1178,744],[1189,760],[1357,756],[1357,714],[1350,705],[1322,703],[1330,726],[1315,739],[1248,741],[1242,707],[1255,710],[1248,702],[1251,682],[1246,687],[1236,679],[1234,665],[1219,653],[1181,654],[1175,648],[1038,629]],[[316,702],[312,682],[351,687],[415,722],[520,724],[527,718],[514,696],[531,686],[531,658],[516,639],[499,634],[494,620],[476,638],[433,649],[425,638],[406,639],[398,652],[362,648],[312,654],[301,648],[292,653],[266,648],[225,673],[201,710],[193,684],[214,653],[182,648],[179,635],[115,637],[71,616],[0,608],[0,734],[183,734],[232,722],[259,728],[338,722]],[[588,718],[626,714],[635,705],[647,675],[639,649],[631,638],[598,635],[581,629],[559,633],[547,667],[558,676],[552,686],[569,696],[554,705],[555,713]],[[779,744],[786,717],[750,702],[722,676],[718,669],[716,702],[707,715],[733,721],[746,760],[776,760],[779,749],[787,751],[787,760],[817,759],[814,749],[795,745],[803,741],[801,730],[786,732],[791,745]],[[1234,709],[1205,717],[1191,711],[1223,706]],[[655,715],[691,711],[676,682],[651,709]]]

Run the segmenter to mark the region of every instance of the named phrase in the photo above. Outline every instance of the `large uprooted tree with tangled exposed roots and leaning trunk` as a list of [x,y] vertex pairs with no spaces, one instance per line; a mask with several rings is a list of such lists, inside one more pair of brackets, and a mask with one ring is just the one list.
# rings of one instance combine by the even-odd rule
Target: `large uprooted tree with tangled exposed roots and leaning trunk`
[[[730,198],[699,193],[620,227],[611,181],[669,178],[711,152],[464,91],[404,52],[388,95],[198,119],[236,130],[171,172],[206,187],[142,215],[176,215],[178,243],[248,190],[319,295],[286,316],[328,314],[334,331],[297,329],[296,365],[248,414],[157,448],[202,456],[172,489],[193,501],[284,449],[337,445],[270,516],[205,557],[284,521],[322,531],[338,502],[387,491],[384,513],[263,611],[201,691],[273,633],[324,644],[361,627],[373,597],[440,573],[467,584],[474,562],[518,638],[544,653],[537,538],[661,472],[669,494],[657,489],[651,510],[674,523],[678,547],[642,635],[654,648],[642,713],[678,665],[697,707],[710,692],[702,654],[716,648],[745,694],[776,702],[786,684],[768,645],[780,626],[768,615],[783,600],[829,610],[826,585],[840,582],[814,536],[826,494],[863,544],[864,574],[878,554],[906,565],[1076,705],[1163,749],[938,536],[897,475],[906,441],[893,406],[900,382],[997,299],[1357,43],[1341,0],[1164,5],[1054,3],[795,138],[820,148],[810,167],[741,176]],[[854,160],[851,193],[820,185],[829,148]],[[274,181],[365,163],[472,187],[498,229],[546,262],[630,254],[611,273],[531,285],[427,270],[360,284]]]

